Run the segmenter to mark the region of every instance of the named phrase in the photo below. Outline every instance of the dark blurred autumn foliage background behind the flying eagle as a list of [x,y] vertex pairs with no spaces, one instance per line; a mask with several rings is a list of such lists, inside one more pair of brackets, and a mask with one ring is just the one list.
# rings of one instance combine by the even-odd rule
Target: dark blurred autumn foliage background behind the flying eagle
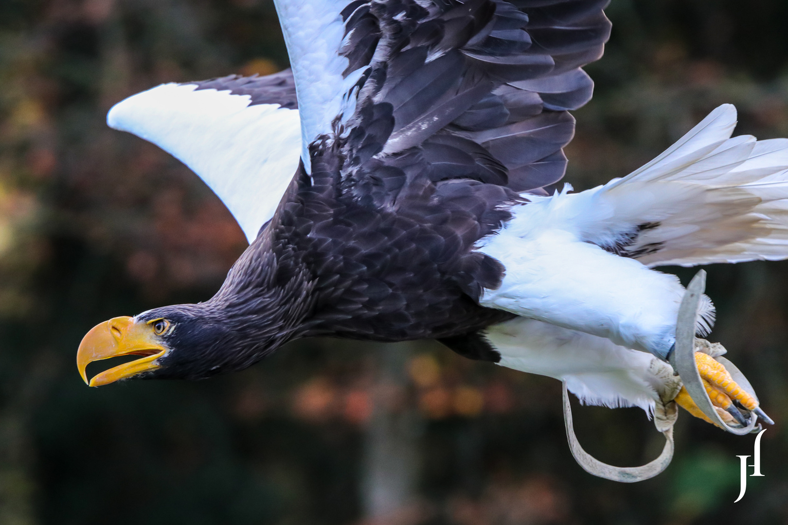
[[[576,189],[723,102],[737,133],[788,136],[788,2],[613,0],[608,16],[567,148]],[[777,422],[765,477],[737,504],[752,436],[684,412],[662,475],[597,479],[571,457],[558,382],[433,342],[306,340],[236,375],[87,388],[74,357],[89,328],[210,298],[245,247],[214,194],[106,128],[107,109],[158,83],[287,66],[270,0],[0,0],[0,523],[788,523],[785,262],[706,268],[710,339]],[[575,404],[575,420],[612,464],[662,446],[638,409]]]

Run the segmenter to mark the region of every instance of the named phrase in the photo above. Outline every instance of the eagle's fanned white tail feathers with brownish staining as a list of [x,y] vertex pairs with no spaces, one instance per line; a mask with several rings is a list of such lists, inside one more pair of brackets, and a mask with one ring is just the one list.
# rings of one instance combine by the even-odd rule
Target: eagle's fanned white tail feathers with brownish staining
[[721,105],[649,164],[578,194],[584,238],[648,266],[788,258],[788,139],[730,139]]

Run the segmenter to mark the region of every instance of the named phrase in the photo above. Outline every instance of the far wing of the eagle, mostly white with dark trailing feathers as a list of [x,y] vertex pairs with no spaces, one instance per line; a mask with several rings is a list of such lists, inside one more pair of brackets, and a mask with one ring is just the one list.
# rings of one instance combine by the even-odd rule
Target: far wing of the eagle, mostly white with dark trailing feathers
[[249,242],[273,216],[299,165],[290,70],[162,84],[119,102],[107,124],[184,162],[227,205]]

